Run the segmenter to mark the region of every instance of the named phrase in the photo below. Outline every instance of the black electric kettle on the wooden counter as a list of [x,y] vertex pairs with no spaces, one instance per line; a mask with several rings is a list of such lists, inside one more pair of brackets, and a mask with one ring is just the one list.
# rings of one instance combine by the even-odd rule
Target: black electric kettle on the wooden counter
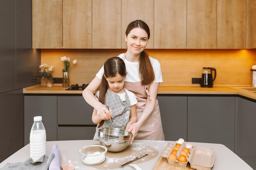
[[[214,78],[213,78],[214,71]],[[202,78],[201,78],[201,87],[213,87],[213,81],[216,78],[216,69],[213,67],[203,67]]]

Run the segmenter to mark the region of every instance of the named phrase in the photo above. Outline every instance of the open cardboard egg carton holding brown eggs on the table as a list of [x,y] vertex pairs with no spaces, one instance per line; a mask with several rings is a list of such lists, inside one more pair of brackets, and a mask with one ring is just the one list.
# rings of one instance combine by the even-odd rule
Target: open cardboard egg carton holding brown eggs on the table
[[[168,143],[164,148],[161,156],[165,157],[168,160],[168,164],[170,166],[178,166],[180,168],[186,168],[187,163],[189,162],[190,167],[195,170],[211,170],[214,162],[215,152],[211,148],[203,148],[194,146],[190,148],[190,154],[188,154],[186,162],[180,161],[171,161],[168,159],[168,156],[171,154],[171,151],[176,146],[176,144]],[[185,144],[183,143],[180,146],[180,149],[177,151],[177,158],[180,156],[180,151],[185,148]]]

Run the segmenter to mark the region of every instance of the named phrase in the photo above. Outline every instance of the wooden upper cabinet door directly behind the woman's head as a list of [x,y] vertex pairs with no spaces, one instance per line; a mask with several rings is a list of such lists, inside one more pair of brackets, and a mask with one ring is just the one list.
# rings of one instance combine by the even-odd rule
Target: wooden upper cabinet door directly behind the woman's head
[[142,20],[150,29],[150,37],[146,49],[154,48],[154,0],[121,0],[121,48],[127,49],[124,40],[126,28],[130,22]]

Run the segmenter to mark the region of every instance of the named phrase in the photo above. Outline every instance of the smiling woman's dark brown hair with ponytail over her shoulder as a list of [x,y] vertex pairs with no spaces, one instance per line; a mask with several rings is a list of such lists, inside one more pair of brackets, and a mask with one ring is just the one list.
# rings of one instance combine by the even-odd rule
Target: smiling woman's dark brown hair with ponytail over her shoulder
[[[130,31],[134,28],[141,28],[146,31],[148,34],[148,39],[150,37],[150,30],[148,25],[141,20],[135,20],[131,22],[126,29],[126,35],[130,33]],[[145,51],[142,51],[140,53],[139,57],[139,73],[141,77],[141,84],[147,85],[154,81],[155,79],[155,73],[152,67],[152,64],[149,60],[148,54]]]

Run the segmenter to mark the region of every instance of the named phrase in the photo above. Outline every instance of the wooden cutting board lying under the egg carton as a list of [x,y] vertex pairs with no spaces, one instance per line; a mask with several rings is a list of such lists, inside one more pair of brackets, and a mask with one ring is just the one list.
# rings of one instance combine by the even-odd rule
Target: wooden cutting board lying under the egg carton
[[186,165],[186,168],[180,168],[178,166],[170,166],[168,164],[167,158],[162,157],[161,155],[157,159],[153,170],[194,170],[190,168],[189,163]]

